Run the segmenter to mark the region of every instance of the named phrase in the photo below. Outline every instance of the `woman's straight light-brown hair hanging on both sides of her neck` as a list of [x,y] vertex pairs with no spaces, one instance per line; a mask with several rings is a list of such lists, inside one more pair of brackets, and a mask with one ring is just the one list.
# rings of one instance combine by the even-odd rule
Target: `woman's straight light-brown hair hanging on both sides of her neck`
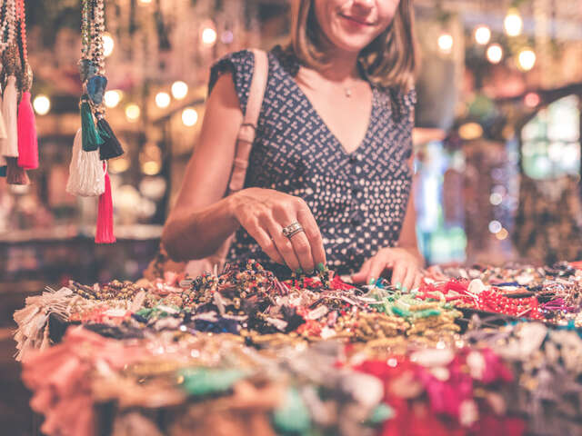
[[[291,43],[287,50],[293,50],[303,64],[319,69],[326,66],[326,52],[322,49],[323,33],[313,3],[313,0],[293,2]],[[366,45],[359,61],[373,83],[398,86],[405,92],[412,88],[418,67],[412,0],[400,0],[392,23]]]

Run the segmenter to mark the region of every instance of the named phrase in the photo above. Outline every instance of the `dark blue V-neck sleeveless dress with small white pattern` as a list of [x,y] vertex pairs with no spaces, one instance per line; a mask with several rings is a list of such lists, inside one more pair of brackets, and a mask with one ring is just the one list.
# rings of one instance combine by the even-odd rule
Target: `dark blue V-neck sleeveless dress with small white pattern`
[[[247,50],[227,54],[211,68],[209,93],[220,74],[232,73],[244,114],[254,61]],[[416,94],[371,84],[366,136],[348,154],[296,84],[296,57],[276,46],[268,53],[268,65],[245,187],[303,198],[319,225],[330,269],[356,272],[380,248],[398,241],[412,185],[407,159],[412,153]],[[256,259],[277,274],[290,272],[273,263],[241,227],[227,262],[247,259]]]

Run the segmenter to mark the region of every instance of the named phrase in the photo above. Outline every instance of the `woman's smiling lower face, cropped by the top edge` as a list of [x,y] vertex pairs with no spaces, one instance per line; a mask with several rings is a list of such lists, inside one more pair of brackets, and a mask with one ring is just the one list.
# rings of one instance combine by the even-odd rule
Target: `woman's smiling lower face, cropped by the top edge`
[[400,0],[314,0],[317,23],[340,50],[359,53],[392,22]]

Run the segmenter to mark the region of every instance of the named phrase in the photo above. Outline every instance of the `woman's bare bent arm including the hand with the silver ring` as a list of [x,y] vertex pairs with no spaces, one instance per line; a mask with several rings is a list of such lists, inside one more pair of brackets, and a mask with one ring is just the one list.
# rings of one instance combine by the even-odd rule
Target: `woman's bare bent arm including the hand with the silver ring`
[[[275,262],[286,263],[292,271],[313,271],[326,263],[326,253],[305,201],[262,188],[247,188],[222,198],[242,122],[232,75],[222,75],[208,98],[199,145],[162,234],[166,252],[176,261],[201,259],[215,253],[242,225]],[[305,232],[286,238],[283,228],[296,222]]]

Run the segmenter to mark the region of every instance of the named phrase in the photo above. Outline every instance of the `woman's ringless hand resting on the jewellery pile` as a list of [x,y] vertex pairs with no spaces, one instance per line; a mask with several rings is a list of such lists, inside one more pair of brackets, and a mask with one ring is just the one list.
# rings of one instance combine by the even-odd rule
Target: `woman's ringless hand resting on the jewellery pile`
[[416,248],[383,248],[362,265],[362,269],[352,276],[352,280],[356,283],[369,283],[391,269],[391,284],[406,292],[420,284],[423,263]]

